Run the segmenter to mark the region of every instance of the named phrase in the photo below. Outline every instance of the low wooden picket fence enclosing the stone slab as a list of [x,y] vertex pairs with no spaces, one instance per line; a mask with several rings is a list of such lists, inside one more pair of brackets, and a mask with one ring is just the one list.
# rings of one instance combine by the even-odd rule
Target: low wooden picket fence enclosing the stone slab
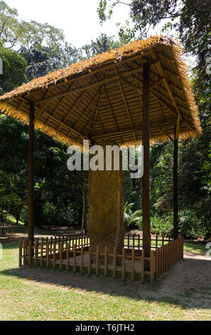
[[146,257],[144,249],[141,249],[142,240],[137,236],[126,237],[126,246],[121,253],[115,247],[112,253],[107,247],[103,252],[99,251],[99,247],[92,252],[89,237],[85,234],[36,239],[34,246],[25,239],[19,244],[19,267],[23,264],[121,277],[122,280],[150,280],[153,285],[155,279],[183,258],[183,237],[170,242],[163,238],[154,241],[156,250],[151,249],[149,257]]

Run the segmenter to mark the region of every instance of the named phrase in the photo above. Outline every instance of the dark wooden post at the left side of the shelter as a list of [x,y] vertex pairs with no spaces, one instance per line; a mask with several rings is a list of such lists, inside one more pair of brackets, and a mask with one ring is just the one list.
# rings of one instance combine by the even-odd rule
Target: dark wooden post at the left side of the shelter
[[30,103],[28,130],[28,240],[34,245],[34,103]]

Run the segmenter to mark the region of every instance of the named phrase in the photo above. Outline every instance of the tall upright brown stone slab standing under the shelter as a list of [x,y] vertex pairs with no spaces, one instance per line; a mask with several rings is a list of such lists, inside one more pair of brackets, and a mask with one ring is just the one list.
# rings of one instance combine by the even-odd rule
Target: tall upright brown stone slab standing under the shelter
[[92,252],[96,252],[97,245],[99,250],[104,251],[107,246],[108,252],[113,253],[114,247],[117,247],[117,252],[121,252],[124,247],[125,203],[122,170],[90,170],[88,202],[88,232]]

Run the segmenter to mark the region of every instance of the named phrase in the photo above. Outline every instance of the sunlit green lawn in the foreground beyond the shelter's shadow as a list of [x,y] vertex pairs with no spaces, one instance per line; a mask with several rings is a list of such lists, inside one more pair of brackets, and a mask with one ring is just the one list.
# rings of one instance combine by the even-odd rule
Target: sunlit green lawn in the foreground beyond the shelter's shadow
[[[23,228],[21,227],[21,230]],[[197,246],[198,247],[198,246]],[[185,244],[200,252],[194,244]],[[4,244],[0,261],[1,320],[187,320],[210,319],[207,310],[188,309],[181,301],[156,297],[160,284],[79,274],[46,269],[18,269],[18,244]],[[34,278],[29,280],[28,277]],[[153,297],[153,294],[155,297]]]

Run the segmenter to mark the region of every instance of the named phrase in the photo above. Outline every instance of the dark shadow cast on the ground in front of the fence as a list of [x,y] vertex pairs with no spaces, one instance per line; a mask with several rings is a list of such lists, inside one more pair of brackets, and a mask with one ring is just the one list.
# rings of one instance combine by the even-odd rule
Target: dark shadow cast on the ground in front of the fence
[[[178,262],[178,265],[183,265],[183,260]],[[203,259],[185,259],[190,262],[189,266],[195,263],[194,267],[208,268],[207,274],[210,273],[210,261]],[[185,265],[185,266],[186,266]],[[171,273],[171,271],[173,273]],[[154,287],[151,287],[148,282],[141,284],[141,282],[132,282],[121,279],[113,279],[112,277],[99,276],[96,277],[94,274],[88,276],[88,274],[73,274],[72,272],[60,272],[59,270],[45,269],[45,268],[29,268],[21,267],[16,269],[6,269],[0,274],[6,276],[17,277],[20,279],[32,278],[34,282],[46,287],[46,289],[79,289],[87,292],[97,292],[99,294],[108,294],[113,297],[126,297],[134,299],[136,301],[146,300],[150,302],[168,303],[173,306],[178,306],[181,309],[211,309],[211,284],[207,282],[207,287],[196,287],[195,289],[183,289],[177,287],[177,285],[168,287],[171,285],[170,277],[176,275],[175,267],[170,272],[166,273],[162,279],[158,279]],[[181,277],[182,278],[182,277]],[[180,277],[177,279],[177,284],[180,283]],[[163,287],[164,285],[164,287]],[[168,288],[168,289],[165,289]]]

